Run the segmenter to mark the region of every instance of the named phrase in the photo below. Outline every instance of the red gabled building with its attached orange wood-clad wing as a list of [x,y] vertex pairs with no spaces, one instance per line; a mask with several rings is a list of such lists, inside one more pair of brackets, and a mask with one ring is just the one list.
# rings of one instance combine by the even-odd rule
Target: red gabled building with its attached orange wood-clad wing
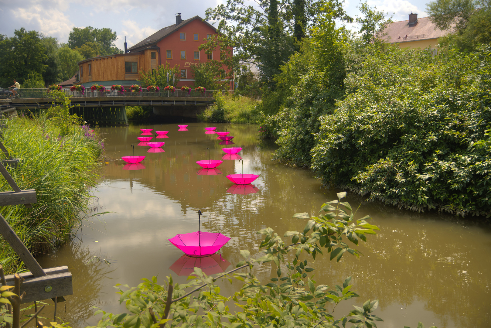
[[[148,72],[168,62],[171,67],[176,64],[180,67],[180,82],[176,83],[176,87],[193,86],[192,66],[220,59],[219,49],[214,50],[212,54],[198,50],[201,44],[208,42],[216,34],[217,29],[199,16],[182,21],[179,14],[176,16],[176,24],[164,27],[136,43],[128,49],[129,53],[80,61],[80,83],[85,87],[95,83],[106,87],[113,84],[138,84],[140,71]],[[229,50],[231,52],[231,49]],[[233,86],[232,81],[230,86]]]

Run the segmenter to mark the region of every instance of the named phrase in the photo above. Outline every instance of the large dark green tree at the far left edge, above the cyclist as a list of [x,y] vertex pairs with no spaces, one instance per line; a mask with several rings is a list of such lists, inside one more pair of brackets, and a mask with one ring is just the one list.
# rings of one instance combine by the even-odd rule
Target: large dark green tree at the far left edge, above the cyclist
[[0,41],[0,83],[11,85],[16,79],[22,84],[32,72],[43,74],[47,69],[45,52],[37,31],[16,29],[13,37]]

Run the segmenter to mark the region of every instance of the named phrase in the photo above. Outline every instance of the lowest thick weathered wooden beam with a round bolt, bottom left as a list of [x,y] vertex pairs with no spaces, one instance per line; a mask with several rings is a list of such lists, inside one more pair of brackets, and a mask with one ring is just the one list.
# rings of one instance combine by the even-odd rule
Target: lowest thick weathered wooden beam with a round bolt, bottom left
[[[7,285],[13,286],[13,284],[13,281],[7,282]],[[47,286],[51,286],[51,289],[46,288]],[[49,292],[47,292],[47,290],[49,290]],[[72,295],[72,273],[56,273],[25,280],[21,286],[21,295],[23,292],[26,292],[26,295],[24,295],[24,298],[22,299],[23,303]]]

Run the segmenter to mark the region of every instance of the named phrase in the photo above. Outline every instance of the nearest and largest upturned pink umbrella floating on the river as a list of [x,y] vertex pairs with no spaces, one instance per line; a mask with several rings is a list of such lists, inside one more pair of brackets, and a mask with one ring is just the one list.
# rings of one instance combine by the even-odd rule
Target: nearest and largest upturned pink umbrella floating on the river
[[168,241],[191,257],[210,256],[225,245],[230,238],[221,233],[201,231],[201,211],[198,210],[199,230],[196,232],[177,234]]

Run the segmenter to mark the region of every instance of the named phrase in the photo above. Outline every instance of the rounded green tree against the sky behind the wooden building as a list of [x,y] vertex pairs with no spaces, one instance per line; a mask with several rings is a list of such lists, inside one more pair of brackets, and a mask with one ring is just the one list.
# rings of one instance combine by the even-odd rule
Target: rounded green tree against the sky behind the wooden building
[[[115,47],[116,39],[116,32],[113,32],[112,29],[107,27],[74,27],[68,36],[68,46],[72,49],[77,47],[82,49],[83,45],[91,43],[89,48],[92,49],[92,51],[88,53],[90,55],[93,55],[95,50],[97,50],[96,55],[122,54],[123,52]],[[98,47],[93,44],[97,44]],[[81,54],[84,55],[84,52],[85,51],[81,51]],[[89,56],[84,56],[90,58]]]

